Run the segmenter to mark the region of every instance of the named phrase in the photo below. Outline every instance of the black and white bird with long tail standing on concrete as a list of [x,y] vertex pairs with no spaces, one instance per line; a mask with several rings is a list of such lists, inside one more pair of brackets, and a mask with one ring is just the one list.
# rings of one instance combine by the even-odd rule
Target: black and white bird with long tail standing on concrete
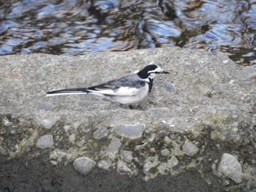
[[149,64],[135,74],[129,74],[116,80],[110,80],[90,88],[69,88],[50,91],[47,96],[67,94],[94,94],[121,104],[136,104],[143,101],[151,92],[154,77],[157,74],[169,74],[159,66]]

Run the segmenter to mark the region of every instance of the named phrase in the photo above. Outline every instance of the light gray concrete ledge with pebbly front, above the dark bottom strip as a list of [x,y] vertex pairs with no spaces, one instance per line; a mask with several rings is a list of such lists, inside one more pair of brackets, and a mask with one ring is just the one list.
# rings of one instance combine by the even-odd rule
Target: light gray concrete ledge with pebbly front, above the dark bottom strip
[[[135,110],[97,96],[45,97],[53,89],[86,87],[121,77],[152,61],[170,75],[157,77],[150,96]],[[86,156],[97,162],[106,161],[109,169],[116,169],[113,164],[120,161],[118,165],[122,166],[117,171],[121,174],[140,172],[143,165],[148,170],[143,180],[158,174],[178,174],[198,164],[204,167],[207,162],[203,158],[209,158],[209,154],[212,166],[217,167],[224,152],[238,157],[247,168],[255,167],[255,66],[238,66],[223,53],[212,55],[205,50],[178,47],[91,53],[82,57],[6,55],[0,57],[0,63],[1,140],[7,141],[10,131],[17,137],[16,142],[11,142],[15,150],[11,145],[1,146],[0,153],[9,158],[28,149],[33,156],[41,150],[33,148],[37,140],[50,134],[53,147],[48,150],[56,155],[50,158],[52,164]],[[136,123],[143,123],[146,128],[132,143],[114,131],[121,124]],[[96,139],[93,133],[99,128],[104,134]],[[19,131],[23,134],[18,134]],[[108,158],[113,138],[121,146],[113,158]],[[189,157],[189,164],[182,160],[186,157],[181,150],[185,142],[198,150]],[[212,145],[218,153],[212,153]],[[227,146],[232,146],[230,151],[224,151]],[[241,155],[241,146],[246,148],[247,155]],[[122,149],[132,152],[133,160],[129,163],[121,160]],[[161,154],[166,149],[170,153]],[[65,158],[60,158],[60,154]],[[178,158],[178,171],[167,164],[173,157]],[[148,158],[154,159],[154,164],[149,164]],[[150,170],[155,168],[157,172],[152,173]],[[218,175],[217,168],[213,174]]]

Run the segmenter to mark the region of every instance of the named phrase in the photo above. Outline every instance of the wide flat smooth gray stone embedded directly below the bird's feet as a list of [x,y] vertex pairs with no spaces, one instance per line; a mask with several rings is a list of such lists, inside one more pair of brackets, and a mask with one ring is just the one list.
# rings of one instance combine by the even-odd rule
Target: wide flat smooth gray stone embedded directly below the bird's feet
[[143,131],[145,130],[145,124],[135,125],[120,125],[116,128],[116,134],[127,139],[139,139],[142,137]]

